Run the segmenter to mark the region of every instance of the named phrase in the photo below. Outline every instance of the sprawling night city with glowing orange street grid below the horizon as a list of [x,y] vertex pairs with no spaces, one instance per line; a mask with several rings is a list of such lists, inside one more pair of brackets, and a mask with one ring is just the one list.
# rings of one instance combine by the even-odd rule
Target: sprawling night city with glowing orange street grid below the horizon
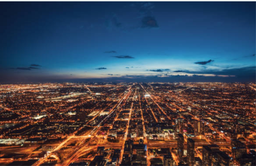
[[0,85],[0,166],[255,166],[256,84]]

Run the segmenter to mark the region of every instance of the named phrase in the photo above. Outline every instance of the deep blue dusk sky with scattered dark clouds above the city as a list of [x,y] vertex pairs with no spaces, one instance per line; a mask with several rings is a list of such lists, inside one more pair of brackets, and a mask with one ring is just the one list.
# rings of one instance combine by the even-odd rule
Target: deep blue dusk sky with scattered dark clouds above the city
[[256,2],[0,2],[0,11],[2,83],[256,81]]

